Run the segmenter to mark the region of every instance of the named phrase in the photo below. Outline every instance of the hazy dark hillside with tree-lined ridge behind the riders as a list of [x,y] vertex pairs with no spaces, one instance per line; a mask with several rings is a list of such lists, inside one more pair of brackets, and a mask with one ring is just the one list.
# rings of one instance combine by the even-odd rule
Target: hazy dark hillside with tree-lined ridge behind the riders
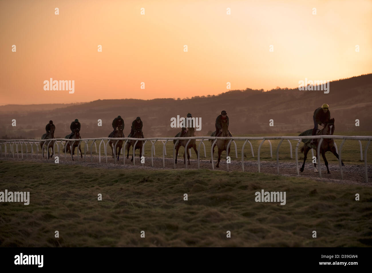
[[[81,136],[107,137],[112,131],[113,118],[121,115],[125,121],[127,136],[132,121],[140,116],[144,123],[145,137],[173,137],[180,129],[170,127],[171,117],[202,118],[199,136],[214,131],[215,119],[221,110],[230,118],[233,134],[297,133],[313,127],[312,114],[323,103],[330,105],[335,118],[336,133],[341,130],[372,130],[372,74],[330,82],[330,92],[299,91],[276,88],[263,90],[232,90],[219,95],[174,100],[96,100],[75,104],[32,104],[0,106],[0,137],[40,138],[45,125],[51,119],[56,125],[56,137],[64,137],[70,131],[75,118],[81,122]],[[17,126],[11,121],[16,119]],[[101,119],[102,127],[97,126]],[[274,126],[269,126],[269,120]],[[355,126],[355,120],[360,126]],[[335,133],[335,134],[336,134]]]

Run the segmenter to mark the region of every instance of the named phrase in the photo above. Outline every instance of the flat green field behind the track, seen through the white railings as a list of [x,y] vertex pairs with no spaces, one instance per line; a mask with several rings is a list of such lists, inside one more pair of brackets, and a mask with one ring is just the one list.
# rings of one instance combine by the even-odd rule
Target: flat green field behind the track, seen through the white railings
[[[355,135],[358,135],[358,136],[372,136],[372,131],[337,131],[336,133],[337,133],[337,135],[343,135],[343,136],[355,136]],[[285,135],[286,136],[298,136],[298,134],[299,133],[285,134]],[[236,135],[236,136],[250,136],[250,137],[280,136],[280,134],[264,134],[264,135],[251,134],[251,135]],[[273,158],[270,157],[270,145],[269,145],[269,142],[266,140],[261,147],[261,155],[260,155],[261,160],[268,160],[268,161],[276,160],[276,148],[278,147],[278,144],[279,144],[280,140],[270,140],[270,141],[272,143]],[[337,144],[338,147],[341,145],[341,141],[342,140],[336,140],[336,144]],[[244,141],[243,140],[237,140],[235,142],[237,144],[238,160],[241,160],[241,147],[243,146]],[[257,160],[257,152],[258,152],[258,146],[259,146],[260,142],[261,142],[261,140],[251,141],[252,146],[253,146],[254,158],[252,157],[249,143],[246,144],[246,146],[244,147],[244,155],[245,155],[244,160],[247,160],[247,161]],[[92,142],[88,143],[88,147],[89,147],[88,151],[89,152],[90,152],[91,143]],[[203,143],[205,143],[206,157],[210,158],[210,156],[211,156],[211,149],[210,149],[211,148],[211,142],[204,141]],[[292,140],[291,143],[292,143],[293,159],[291,159],[291,157],[290,157],[289,143],[287,141],[283,141],[283,143],[280,146],[280,150],[279,150],[279,160],[295,161],[295,148],[296,148],[297,141]],[[364,160],[364,149],[365,149],[366,143],[367,143],[367,141],[362,141],[363,160]],[[199,141],[196,142],[196,145],[198,147]],[[84,147],[82,147],[82,151],[84,153],[85,145],[83,145],[83,146]],[[300,147],[302,147],[302,146],[303,146],[303,144],[301,143],[300,146],[299,146],[299,151],[298,151],[299,152],[299,161],[303,160],[303,154],[300,152]],[[99,149],[99,142],[97,143],[97,149]],[[181,159],[183,158],[184,150],[185,149],[183,147],[181,147],[180,150],[179,150],[179,153],[180,153],[179,158],[181,158]],[[8,151],[9,151],[9,145],[8,145]],[[108,147],[108,151],[109,151],[108,152],[109,155],[111,155],[111,149],[109,147]],[[368,162],[368,164],[372,164],[372,154],[371,154],[372,145],[369,146],[368,151],[369,151],[369,153],[367,155],[367,162]],[[62,151],[62,148],[61,148],[61,152],[64,152],[64,150]],[[173,157],[173,141],[168,141],[167,142],[166,152],[167,152],[166,157]],[[138,153],[138,150],[137,150],[137,153]],[[311,157],[311,152],[309,152],[309,153],[310,153],[310,157]],[[94,145],[93,145],[92,154],[93,155],[98,154],[98,153],[96,153]],[[104,155],[103,145],[101,147],[101,155]],[[163,155],[163,143],[161,141],[157,141],[155,143],[155,155],[158,156],[158,157],[159,156],[161,157]],[[149,142],[149,141],[145,145],[145,157],[148,157],[148,156],[151,156],[151,142]],[[234,144],[231,144],[230,156],[231,156],[232,160],[236,160]],[[333,163],[333,164],[338,163],[337,158],[331,152],[327,152],[326,156],[327,156],[328,162]],[[195,152],[193,150],[191,151],[191,157],[196,158]],[[226,157],[225,152],[222,153],[222,157],[224,157],[224,158]],[[308,156],[308,160],[310,160],[310,157]],[[202,159],[204,158],[203,145],[201,145],[201,158]],[[217,148],[215,148],[214,158],[217,159]],[[356,165],[363,164],[363,162],[360,162],[359,142],[357,142],[355,140],[347,140],[344,143],[343,148],[342,148],[342,158],[343,158],[343,162],[346,163],[346,164],[347,163],[356,164]],[[323,159],[321,159],[321,161],[323,161]]]

